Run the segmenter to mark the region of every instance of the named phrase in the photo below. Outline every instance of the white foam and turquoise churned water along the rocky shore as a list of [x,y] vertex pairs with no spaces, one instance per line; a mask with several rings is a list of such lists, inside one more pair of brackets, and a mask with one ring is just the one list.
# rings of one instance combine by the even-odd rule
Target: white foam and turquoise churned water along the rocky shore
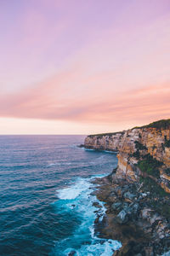
[[[120,241],[101,239],[95,236],[94,220],[97,217],[96,207],[93,203],[98,201],[92,194],[94,185],[91,178],[77,178],[77,181],[69,187],[57,190],[59,200],[54,202],[56,212],[65,218],[65,225],[71,225],[74,219],[74,229],[69,236],[55,243],[53,255],[66,256],[74,252],[75,256],[111,256],[122,244]],[[98,214],[101,221],[105,215],[104,203],[98,201],[100,208]],[[69,216],[69,218],[68,218]]]

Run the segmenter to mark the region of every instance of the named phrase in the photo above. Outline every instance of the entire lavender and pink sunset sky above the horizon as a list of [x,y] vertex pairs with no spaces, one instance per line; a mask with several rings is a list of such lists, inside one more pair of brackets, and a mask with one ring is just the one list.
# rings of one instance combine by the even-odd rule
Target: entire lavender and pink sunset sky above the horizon
[[0,134],[170,118],[169,0],[0,0]]

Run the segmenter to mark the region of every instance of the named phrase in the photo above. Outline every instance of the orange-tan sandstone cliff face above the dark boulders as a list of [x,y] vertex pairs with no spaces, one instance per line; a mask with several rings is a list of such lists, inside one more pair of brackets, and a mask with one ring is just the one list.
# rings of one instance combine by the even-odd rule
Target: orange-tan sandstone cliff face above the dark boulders
[[117,151],[116,177],[150,177],[170,193],[170,119],[112,134],[85,138],[85,148]]

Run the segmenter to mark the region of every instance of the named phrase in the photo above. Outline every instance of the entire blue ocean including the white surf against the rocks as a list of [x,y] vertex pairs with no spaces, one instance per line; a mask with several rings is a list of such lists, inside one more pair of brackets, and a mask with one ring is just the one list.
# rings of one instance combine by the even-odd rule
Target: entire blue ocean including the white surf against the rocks
[[0,136],[1,256],[110,256],[121,247],[95,236],[90,195],[91,179],[110,173],[116,154],[78,148],[83,140]]

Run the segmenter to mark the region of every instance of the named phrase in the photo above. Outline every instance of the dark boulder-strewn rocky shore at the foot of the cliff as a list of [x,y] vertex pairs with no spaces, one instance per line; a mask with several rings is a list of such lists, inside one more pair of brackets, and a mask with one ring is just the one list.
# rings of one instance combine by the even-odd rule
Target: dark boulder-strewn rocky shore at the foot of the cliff
[[102,221],[99,216],[94,221],[95,233],[122,243],[114,256],[163,255],[170,247],[169,224],[166,218],[149,207],[149,191],[116,177],[113,181],[112,175],[92,181],[96,184],[97,199],[106,207]]

